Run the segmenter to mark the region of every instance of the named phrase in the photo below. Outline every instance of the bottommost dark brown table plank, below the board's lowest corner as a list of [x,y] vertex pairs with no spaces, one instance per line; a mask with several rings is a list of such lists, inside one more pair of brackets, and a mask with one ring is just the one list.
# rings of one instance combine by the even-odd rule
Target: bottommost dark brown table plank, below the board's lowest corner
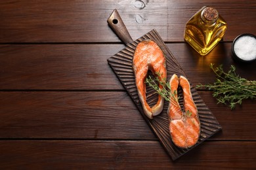
[[255,169],[255,142],[205,142],[171,161],[158,141],[0,141],[1,169]]

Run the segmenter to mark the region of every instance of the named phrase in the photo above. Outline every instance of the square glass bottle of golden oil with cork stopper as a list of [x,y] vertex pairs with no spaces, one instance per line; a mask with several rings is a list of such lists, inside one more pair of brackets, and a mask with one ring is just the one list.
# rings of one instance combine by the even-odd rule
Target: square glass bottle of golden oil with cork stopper
[[208,54],[224,36],[226,22],[212,7],[203,7],[188,22],[184,40],[200,55]]

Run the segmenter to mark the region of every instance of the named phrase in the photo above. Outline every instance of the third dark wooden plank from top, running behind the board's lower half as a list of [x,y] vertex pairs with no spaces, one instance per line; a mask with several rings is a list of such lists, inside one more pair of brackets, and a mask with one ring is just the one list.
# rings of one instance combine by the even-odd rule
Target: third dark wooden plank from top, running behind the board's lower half
[[[256,140],[255,101],[230,111],[199,93],[223,127],[211,140]],[[0,105],[0,138],[156,140],[126,92],[0,92]]]

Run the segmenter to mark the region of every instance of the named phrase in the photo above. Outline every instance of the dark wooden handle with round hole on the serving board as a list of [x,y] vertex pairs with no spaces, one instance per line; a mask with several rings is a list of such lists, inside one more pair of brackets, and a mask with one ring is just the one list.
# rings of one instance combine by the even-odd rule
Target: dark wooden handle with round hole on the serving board
[[112,14],[107,20],[108,25],[112,28],[112,30],[116,33],[117,37],[121,39],[125,44],[129,44],[133,42],[131,35],[129,34],[125,24],[123,24],[123,20],[121,16],[117,12],[116,9],[113,10]]

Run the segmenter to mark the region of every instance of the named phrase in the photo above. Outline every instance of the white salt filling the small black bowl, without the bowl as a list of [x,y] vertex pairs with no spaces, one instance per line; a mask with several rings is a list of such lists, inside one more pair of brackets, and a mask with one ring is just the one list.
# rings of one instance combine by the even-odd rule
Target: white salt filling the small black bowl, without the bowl
[[234,43],[234,52],[238,58],[250,61],[256,58],[256,39],[251,36],[239,37]]

